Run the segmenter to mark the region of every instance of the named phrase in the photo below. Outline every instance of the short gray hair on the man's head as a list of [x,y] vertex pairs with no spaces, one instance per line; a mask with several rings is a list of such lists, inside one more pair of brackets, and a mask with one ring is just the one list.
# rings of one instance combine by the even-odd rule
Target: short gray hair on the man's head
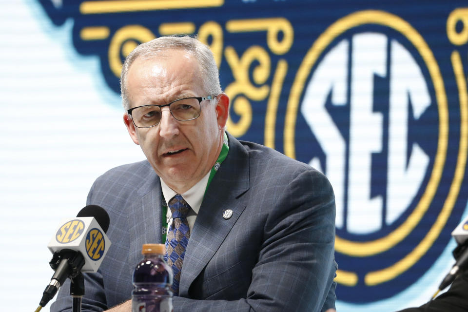
[[[120,90],[122,105],[125,110],[130,109],[127,95],[127,76],[132,63],[138,58],[150,59],[167,54],[170,50],[185,50],[198,62],[201,71],[201,79],[207,95],[215,96],[222,92],[219,84],[218,67],[210,48],[196,38],[183,36],[159,37],[138,45],[125,59],[120,74]],[[206,96],[206,95],[200,95]]]

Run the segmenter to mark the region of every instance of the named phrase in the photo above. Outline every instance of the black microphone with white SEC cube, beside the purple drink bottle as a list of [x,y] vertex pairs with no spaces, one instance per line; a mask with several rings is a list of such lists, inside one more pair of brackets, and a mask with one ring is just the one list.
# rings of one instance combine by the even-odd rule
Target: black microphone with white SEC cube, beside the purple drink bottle
[[[53,253],[49,264],[55,273],[42,294],[39,308],[55,296],[67,277],[98,271],[111,246],[105,234],[109,229],[109,215],[100,206],[88,205],[76,218],[64,219],[60,224],[47,245]],[[82,288],[84,290],[84,285]]]

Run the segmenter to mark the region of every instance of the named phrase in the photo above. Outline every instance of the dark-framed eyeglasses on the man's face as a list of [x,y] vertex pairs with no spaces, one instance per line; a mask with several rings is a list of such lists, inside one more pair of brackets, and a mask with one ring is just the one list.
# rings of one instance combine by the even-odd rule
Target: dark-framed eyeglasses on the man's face
[[208,96],[204,98],[179,98],[165,105],[143,105],[131,108],[127,111],[132,116],[133,124],[137,128],[151,128],[161,121],[161,108],[169,106],[171,115],[178,121],[196,119],[201,113],[201,101],[214,99]]

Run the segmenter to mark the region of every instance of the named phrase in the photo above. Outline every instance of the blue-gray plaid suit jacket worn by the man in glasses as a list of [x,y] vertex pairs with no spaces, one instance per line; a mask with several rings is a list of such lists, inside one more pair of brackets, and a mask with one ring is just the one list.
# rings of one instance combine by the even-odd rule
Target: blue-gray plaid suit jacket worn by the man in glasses
[[[334,307],[334,195],[327,178],[270,148],[229,136],[229,154],[203,199],[174,311],[325,311]],[[141,246],[161,241],[161,186],[147,161],[100,176],[88,204],[110,215],[112,241],[85,274],[83,311],[131,298]],[[233,211],[223,218],[227,209]],[[51,311],[71,311],[65,284]]]

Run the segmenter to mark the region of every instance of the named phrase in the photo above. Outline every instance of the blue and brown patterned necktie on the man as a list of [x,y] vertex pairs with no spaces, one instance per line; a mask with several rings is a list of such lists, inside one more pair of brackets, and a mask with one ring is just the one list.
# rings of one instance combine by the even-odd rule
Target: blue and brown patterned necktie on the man
[[189,223],[187,222],[187,214],[190,211],[190,206],[177,194],[169,201],[169,209],[172,213],[172,224],[169,227],[166,238],[166,254],[164,260],[172,268],[174,272],[174,283],[172,291],[174,295],[179,294],[180,271],[182,270],[182,262],[184,261],[185,249],[190,238]]

